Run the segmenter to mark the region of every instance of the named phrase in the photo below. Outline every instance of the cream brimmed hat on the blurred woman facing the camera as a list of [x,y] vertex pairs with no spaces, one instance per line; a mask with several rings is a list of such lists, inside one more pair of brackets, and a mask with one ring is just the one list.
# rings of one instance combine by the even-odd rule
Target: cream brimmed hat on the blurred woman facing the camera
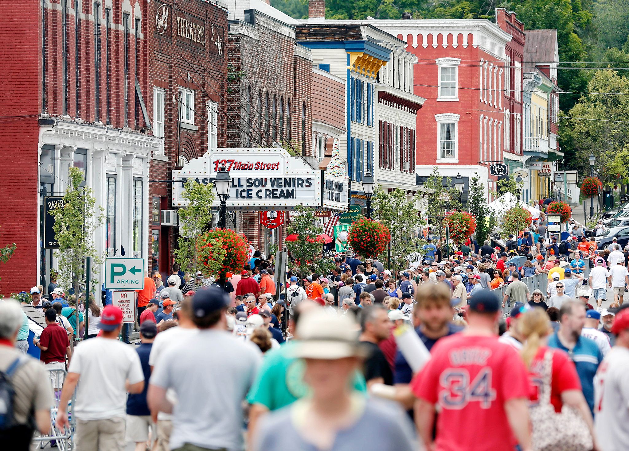
[[321,310],[304,315],[297,326],[299,342],[294,357],[337,360],[363,356],[350,318],[330,316]]

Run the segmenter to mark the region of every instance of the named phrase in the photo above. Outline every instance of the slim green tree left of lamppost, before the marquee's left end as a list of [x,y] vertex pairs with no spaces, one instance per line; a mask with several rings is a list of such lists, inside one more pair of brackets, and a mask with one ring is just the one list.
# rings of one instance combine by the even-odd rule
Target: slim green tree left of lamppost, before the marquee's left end
[[[201,271],[204,276],[209,277],[216,272],[216,266],[220,264],[216,261],[221,256],[220,251],[217,249],[213,254],[213,261],[216,261],[216,264],[199,265],[198,263],[201,235],[208,230],[212,219],[212,204],[216,198],[214,185],[213,183],[202,185],[189,178],[184,185],[182,197],[188,201],[188,205],[179,209],[181,227],[180,236],[177,239],[178,249],[174,251],[175,261],[183,271],[190,271],[192,274]],[[216,242],[216,244],[220,243]]]

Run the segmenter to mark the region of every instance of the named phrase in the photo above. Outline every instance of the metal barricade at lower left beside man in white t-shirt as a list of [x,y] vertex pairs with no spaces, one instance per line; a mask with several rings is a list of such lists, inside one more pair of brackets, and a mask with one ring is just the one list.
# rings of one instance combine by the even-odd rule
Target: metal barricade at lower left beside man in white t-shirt
[[[57,411],[59,409],[59,400],[61,397],[61,386],[65,381],[67,372],[65,369],[49,369],[46,371],[49,374],[50,386],[53,391],[53,402],[50,406],[50,433],[48,435],[40,435],[39,437],[33,437],[33,443],[39,444],[39,448],[50,447],[50,443],[54,440],[57,443],[57,449],[59,451],[72,451],[74,449],[74,442],[72,440],[72,434],[76,429],[76,418],[74,417],[74,406],[76,405],[76,390],[72,394],[72,399],[68,405],[68,421],[70,423],[69,430],[60,431],[57,428]],[[57,390],[55,391],[55,388]]]

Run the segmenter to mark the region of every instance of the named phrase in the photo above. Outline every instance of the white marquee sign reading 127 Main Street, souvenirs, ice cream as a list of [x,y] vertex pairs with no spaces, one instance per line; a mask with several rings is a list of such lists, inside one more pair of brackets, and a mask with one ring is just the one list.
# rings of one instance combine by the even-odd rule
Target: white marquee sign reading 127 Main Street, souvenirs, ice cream
[[[189,179],[207,185],[221,166],[231,176],[227,200],[232,210],[292,210],[297,205],[336,209],[324,202],[323,171],[311,168],[284,149],[213,149],[181,170],[172,171],[172,206],[185,207],[184,184]],[[337,183],[343,180],[337,180]],[[344,180],[347,193],[347,178]],[[343,190],[342,185],[336,185]],[[329,196],[329,193],[326,195]],[[216,198],[214,205],[218,207]],[[345,204],[347,207],[347,204]]]

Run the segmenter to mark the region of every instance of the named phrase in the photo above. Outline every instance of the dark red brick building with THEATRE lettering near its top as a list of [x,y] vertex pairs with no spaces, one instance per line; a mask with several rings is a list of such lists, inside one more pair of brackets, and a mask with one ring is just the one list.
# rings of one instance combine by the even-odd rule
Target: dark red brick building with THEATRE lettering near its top
[[[152,1],[148,26],[152,92],[147,104],[153,135],[163,138],[153,151],[148,199],[151,269],[169,274],[178,227],[170,202],[171,171],[209,148],[225,147],[228,135],[227,14],[215,3]],[[232,118],[230,117],[230,120]]]

